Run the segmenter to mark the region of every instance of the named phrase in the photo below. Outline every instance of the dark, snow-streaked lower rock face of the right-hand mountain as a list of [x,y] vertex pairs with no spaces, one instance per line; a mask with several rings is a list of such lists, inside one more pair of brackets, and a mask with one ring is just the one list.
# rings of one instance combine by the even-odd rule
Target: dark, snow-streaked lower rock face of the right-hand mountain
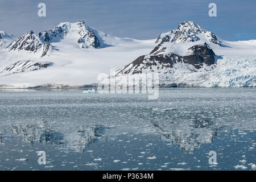
[[[117,70],[117,76],[121,75],[133,75],[143,72],[158,72],[158,73],[173,73],[174,65],[177,63],[185,63],[187,65],[192,65],[193,70],[197,71],[203,67],[203,64],[208,66],[215,63],[215,53],[208,45],[201,44],[189,48],[192,51],[191,55],[180,56],[175,53],[158,53],[151,52],[150,55],[139,56],[132,63],[126,65],[125,67]],[[188,69],[191,69],[188,67]]]

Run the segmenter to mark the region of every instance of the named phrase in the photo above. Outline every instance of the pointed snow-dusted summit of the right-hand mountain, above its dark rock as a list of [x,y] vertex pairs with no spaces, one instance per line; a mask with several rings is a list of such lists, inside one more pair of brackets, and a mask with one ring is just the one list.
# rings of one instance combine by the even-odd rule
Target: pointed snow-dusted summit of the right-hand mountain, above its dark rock
[[159,35],[156,43],[162,44],[165,42],[181,43],[195,42],[202,40],[203,42],[221,45],[221,40],[212,32],[203,30],[194,22],[181,22],[176,30]]

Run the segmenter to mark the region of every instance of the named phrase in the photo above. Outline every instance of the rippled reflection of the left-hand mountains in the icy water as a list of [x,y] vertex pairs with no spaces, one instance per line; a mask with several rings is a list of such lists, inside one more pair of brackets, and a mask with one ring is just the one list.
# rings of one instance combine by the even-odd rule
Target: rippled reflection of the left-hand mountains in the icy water
[[[11,130],[23,142],[34,144],[36,142],[53,144],[62,150],[84,152],[86,146],[97,141],[103,131],[102,126],[80,127],[77,132],[60,133],[52,130],[49,122],[39,121],[27,125],[13,125]],[[0,134],[0,141],[1,141]]]

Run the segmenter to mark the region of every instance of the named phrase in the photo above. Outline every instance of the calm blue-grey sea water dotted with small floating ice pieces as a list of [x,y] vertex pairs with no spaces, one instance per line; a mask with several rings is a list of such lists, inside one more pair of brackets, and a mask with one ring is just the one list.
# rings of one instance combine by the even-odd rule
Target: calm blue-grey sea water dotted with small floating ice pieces
[[0,90],[0,169],[255,169],[255,88],[159,92]]

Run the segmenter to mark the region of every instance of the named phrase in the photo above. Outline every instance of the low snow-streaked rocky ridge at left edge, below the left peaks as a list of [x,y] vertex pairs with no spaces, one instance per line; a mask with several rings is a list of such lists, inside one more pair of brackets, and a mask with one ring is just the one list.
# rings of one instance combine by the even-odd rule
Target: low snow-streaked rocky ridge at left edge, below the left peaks
[[52,62],[43,61],[43,62],[36,62],[36,61],[17,61],[14,64],[7,66],[0,72],[0,76],[10,75],[13,73],[20,73],[26,71],[36,71],[39,69],[45,69],[51,67],[53,65]]

